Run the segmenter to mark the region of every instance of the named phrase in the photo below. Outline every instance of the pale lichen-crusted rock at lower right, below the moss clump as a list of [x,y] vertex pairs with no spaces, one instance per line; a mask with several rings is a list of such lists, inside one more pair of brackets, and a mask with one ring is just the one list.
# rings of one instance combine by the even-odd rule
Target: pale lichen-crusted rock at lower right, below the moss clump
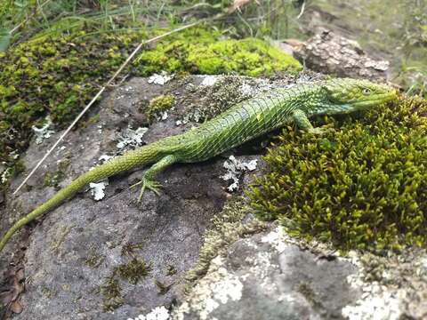
[[267,230],[211,260],[170,320],[425,319],[427,253],[348,252]]

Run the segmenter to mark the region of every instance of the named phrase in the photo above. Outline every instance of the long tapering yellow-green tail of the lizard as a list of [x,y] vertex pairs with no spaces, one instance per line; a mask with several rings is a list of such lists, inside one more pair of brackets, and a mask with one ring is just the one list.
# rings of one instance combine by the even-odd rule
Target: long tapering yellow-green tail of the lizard
[[29,212],[25,217],[16,221],[1,239],[0,252],[17,230],[24,227],[29,222],[36,220],[36,218],[42,216],[44,213],[50,212],[53,208],[62,204],[66,199],[74,196],[77,191],[84,188],[85,185],[90,182],[108,178],[119,172],[125,172],[136,166],[155,163],[162,154],[161,148],[159,148],[158,144],[155,142],[136,150],[128,151],[123,156],[117,156],[107,163],[96,166],[93,170],[83,173],[67,187],[60,189],[51,199],[38,206],[34,211]]

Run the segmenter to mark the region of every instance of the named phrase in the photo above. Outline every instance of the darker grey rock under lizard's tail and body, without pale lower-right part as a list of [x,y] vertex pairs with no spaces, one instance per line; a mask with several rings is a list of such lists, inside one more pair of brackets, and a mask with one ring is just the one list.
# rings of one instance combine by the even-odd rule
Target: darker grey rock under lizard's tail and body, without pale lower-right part
[[[246,77],[232,81],[258,83],[264,90],[266,85],[274,85],[269,80]],[[215,94],[222,91],[224,99],[228,90],[221,84],[215,90],[205,85],[199,89],[201,82],[201,76],[163,85],[133,78],[111,92],[93,109],[84,126],[69,133],[18,196],[6,195],[5,206],[0,208],[6,221],[0,226],[1,234],[18,216],[44,203],[59,188],[98,164],[100,157],[121,152],[117,150],[118,138],[148,126],[141,111],[158,95],[173,94],[177,102],[167,119],[150,124],[148,132],[140,131],[143,135],[139,139],[144,143],[197,126],[191,119],[181,125],[176,122],[187,115],[189,105],[209,106]],[[233,92],[233,100],[255,93],[238,96]],[[42,144],[32,143],[23,156],[26,168],[33,168],[61,133],[54,133]],[[240,153],[236,158],[249,162],[261,156]],[[170,306],[182,290],[184,274],[197,262],[205,228],[231,196],[226,190],[230,181],[221,178],[226,173],[226,160],[225,156],[217,156],[200,164],[173,166],[158,177],[165,186],[162,195],[147,192],[141,204],[135,201],[139,189],[129,186],[141,178],[142,170],[117,175],[109,179],[101,201],[93,200],[90,192],[83,190],[46,214],[41,223],[25,228],[28,232],[13,236],[2,252],[0,268],[4,272],[11,266],[25,270],[25,293],[15,297],[22,306],[16,318],[117,319]],[[55,180],[56,187],[52,175],[62,177]],[[241,185],[248,181],[245,175],[239,176]],[[23,178],[21,175],[12,180],[11,190]],[[235,193],[239,192],[241,188]],[[13,274],[4,273],[2,291],[10,290]]]

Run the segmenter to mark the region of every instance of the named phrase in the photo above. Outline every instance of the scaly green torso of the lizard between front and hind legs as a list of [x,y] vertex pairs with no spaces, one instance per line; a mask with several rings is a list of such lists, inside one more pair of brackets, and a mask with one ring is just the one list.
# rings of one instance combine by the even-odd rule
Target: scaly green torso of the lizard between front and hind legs
[[309,89],[300,84],[244,100],[196,129],[177,136],[182,148],[176,154],[181,162],[204,161],[277,129],[292,121],[292,112],[299,108],[301,95]]

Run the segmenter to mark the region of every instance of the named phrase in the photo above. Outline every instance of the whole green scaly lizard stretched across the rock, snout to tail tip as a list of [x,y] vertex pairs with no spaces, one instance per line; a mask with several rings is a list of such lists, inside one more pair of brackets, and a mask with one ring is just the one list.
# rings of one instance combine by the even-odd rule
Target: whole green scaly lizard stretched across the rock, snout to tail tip
[[123,156],[117,156],[83,173],[68,187],[62,188],[50,200],[13,224],[0,241],[0,251],[18,229],[51,211],[90,182],[137,166],[153,164],[142,176],[141,200],[145,189],[159,193],[161,185],[155,177],[172,164],[204,161],[285,124],[294,123],[308,132],[319,133],[322,130],[313,128],[310,116],[343,114],[372,108],[393,100],[396,94],[395,90],[386,85],[342,78],[295,84],[287,89],[276,89],[245,100],[201,124],[197,129],[128,151]]

